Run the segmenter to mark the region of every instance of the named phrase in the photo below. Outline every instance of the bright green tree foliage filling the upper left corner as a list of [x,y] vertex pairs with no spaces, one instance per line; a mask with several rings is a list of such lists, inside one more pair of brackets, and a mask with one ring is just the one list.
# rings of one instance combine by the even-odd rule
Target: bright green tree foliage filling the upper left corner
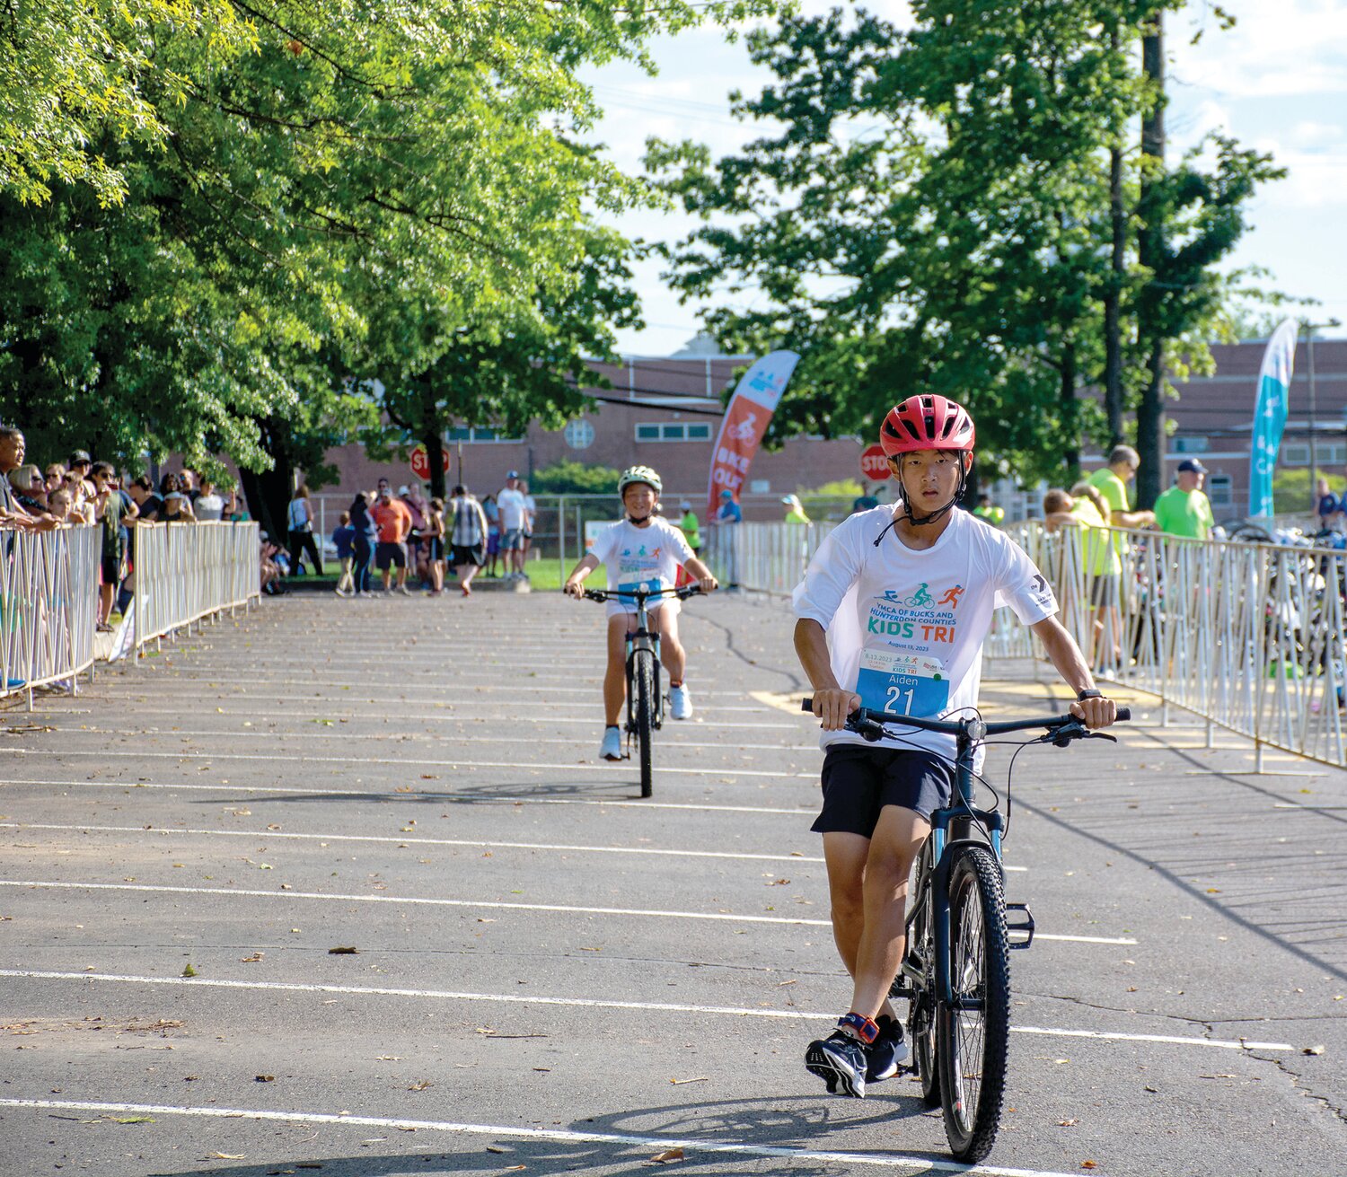
[[[543,315],[586,302],[606,264],[591,249],[621,255],[595,245],[589,217],[648,193],[581,141],[597,106],[579,71],[641,59],[657,32],[770,7],[3,7],[0,35],[19,42],[0,106],[0,416],[58,452],[224,452],[273,469],[277,487],[303,461],[317,485],[314,455],[369,423],[350,377],[399,334],[562,350],[583,335]],[[93,69],[81,54],[135,112],[114,88],[88,106],[62,98],[92,93],[66,81]],[[22,85],[27,96],[11,93]],[[50,116],[42,135],[24,104]],[[389,308],[407,318],[389,322]],[[602,314],[593,299],[589,314]],[[422,368],[445,350],[418,346]],[[532,416],[540,388],[516,373],[506,415]]]

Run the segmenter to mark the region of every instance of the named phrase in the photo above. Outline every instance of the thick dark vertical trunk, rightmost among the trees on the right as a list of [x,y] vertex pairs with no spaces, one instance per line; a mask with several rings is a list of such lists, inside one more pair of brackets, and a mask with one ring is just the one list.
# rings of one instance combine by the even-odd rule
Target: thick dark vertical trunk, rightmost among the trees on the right
[[1153,24],[1141,39],[1141,66],[1154,92],[1141,121],[1141,195],[1137,202],[1141,221],[1137,260],[1150,271],[1137,308],[1137,334],[1146,349],[1146,386],[1137,408],[1137,452],[1141,455],[1137,506],[1149,509],[1160,497],[1165,455],[1165,341],[1160,314],[1164,292],[1156,281],[1165,248],[1164,209],[1158,191],[1165,167],[1165,47],[1164,12],[1160,9],[1153,13]]

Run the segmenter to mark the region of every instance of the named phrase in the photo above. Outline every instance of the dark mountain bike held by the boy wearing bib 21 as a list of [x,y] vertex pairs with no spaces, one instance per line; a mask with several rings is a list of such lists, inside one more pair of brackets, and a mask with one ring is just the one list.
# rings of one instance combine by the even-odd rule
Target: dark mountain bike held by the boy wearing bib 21
[[[806,699],[803,710],[812,714],[814,700]],[[1118,708],[1118,719],[1130,718],[1129,708]],[[927,1107],[943,1110],[955,1158],[975,1165],[991,1151],[1001,1126],[1010,1045],[1009,952],[1033,943],[1034,925],[1028,904],[1005,901],[1001,842],[1009,826],[1009,784],[1005,815],[995,808],[995,791],[993,808],[978,808],[974,755],[990,735],[1040,727],[1044,735],[1025,746],[1115,737],[1091,731],[1074,715],[987,723],[981,716],[919,719],[862,707],[846,726],[869,741],[901,739],[896,726],[956,739],[958,788],[948,805],[931,813],[931,836],[912,869],[907,948],[889,997],[909,1002],[912,1061],[905,1069],[921,1080]]]

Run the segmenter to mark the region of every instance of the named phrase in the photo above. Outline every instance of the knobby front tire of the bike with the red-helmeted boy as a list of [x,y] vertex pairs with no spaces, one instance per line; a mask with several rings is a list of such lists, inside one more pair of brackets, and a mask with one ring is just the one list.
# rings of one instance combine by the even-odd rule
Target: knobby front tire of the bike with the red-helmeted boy
[[989,850],[964,847],[950,871],[955,1002],[936,1014],[936,1067],[950,1150],[970,1165],[991,1151],[1001,1126],[1010,1040],[1009,947],[1001,867]]

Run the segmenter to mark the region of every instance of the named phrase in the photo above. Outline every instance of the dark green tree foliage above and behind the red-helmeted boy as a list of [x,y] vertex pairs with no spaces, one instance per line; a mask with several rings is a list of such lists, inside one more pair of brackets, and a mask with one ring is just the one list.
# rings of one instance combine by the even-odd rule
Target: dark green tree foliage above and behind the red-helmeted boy
[[1211,174],[1193,159],[1165,176],[1175,256],[1164,273],[1142,271],[1140,158],[1121,151],[1130,244],[1118,290],[1110,148],[1158,101],[1138,69],[1154,7],[920,0],[907,32],[863,11],[784,19],[750,38],[776,81],[738,108],[777,120],[779,135],[718,162],[652,141],[648,167],[709,222],[669,250],[678,287],[761,288],[752,310],[722,304],[713,331],[803,354],[777,430],[870,436],[894,400],[942,393],[970,405],[997,469],[1063,479],[1082,432],[1106,428],[1083,397],[1102,382],[1106,295],[1126,315],[1131,404],[1148,281],[1165,284],[1167,304],[1184,299],[1171,285],[1192,290],[1167,338],[1199,338],[1219,303],[1210,267],[1238,228],[1228,213],[1269,172],[1222,141]]

